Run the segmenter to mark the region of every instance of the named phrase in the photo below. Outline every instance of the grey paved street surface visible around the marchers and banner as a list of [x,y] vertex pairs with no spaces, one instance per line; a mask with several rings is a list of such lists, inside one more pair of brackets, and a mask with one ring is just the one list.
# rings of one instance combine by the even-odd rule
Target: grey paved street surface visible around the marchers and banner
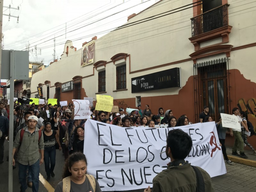
[[[4,151],[4,163],[0,164],[0,188],[1,191],[8,191],[8,164],[6,161],[6,156],[8,155],[8,141],[5,141],[5,151]],[[55,166],[55,177],[51,178],[49,184],[52,186],[47,186],[47,181],[40,179],[39,191],[40,192],[53,192],[54,188],[61,180],[62,169],[64,165],[64,156],[61,151],[56,151],[56,166]],[[254,158],[254,156],[249,156],[249,158]],[[250,167],[242,164],[234,163],[232,165],[226,164],[227,174],[212,178],[212,185],[216,192],[228,191],[228,192],[252,192],[256,191],[256,168]],[[46,173],[44,171],[44,164],[40,167],[41,175],[46,178]],[[42,184],[44,183],[44,185]],[[45,187],[46,186],[46,187]],[[47,190],[48,189],[48,190]],[[18,178],[18,167],[13,170],[13,191],[19,191],[20,184]],[[125,189],[124,189],[125,190]],[[31,188],[28,188],[27,192],[31,192]],[[133,192],[143,192],[141,190],[134,190]]]

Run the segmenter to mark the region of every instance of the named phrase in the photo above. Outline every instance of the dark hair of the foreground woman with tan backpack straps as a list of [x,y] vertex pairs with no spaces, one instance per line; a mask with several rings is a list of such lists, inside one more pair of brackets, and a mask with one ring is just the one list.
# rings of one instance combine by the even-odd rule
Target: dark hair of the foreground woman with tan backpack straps
[[79,152],[72,153],[66,159],[65,166],[64,166],[64,171],[63,171],[63,174],[62,174],[62,179],[72,175],[71,172],[69,172],[68,168],[71,168],[73,166],[73,164],[78,162],[78,161],[84,161],[86,166],[87,166],[87,160],[86,160],[86,157],[83,153],[79,153]]

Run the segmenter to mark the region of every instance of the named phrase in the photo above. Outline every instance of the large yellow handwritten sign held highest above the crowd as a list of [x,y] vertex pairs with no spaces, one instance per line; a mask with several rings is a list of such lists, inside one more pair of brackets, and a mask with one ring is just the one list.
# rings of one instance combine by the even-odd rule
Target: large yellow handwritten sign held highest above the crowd
[[95,110],[111,112],[113,108],[113,97],[107,95],[96,95],[97,103]]

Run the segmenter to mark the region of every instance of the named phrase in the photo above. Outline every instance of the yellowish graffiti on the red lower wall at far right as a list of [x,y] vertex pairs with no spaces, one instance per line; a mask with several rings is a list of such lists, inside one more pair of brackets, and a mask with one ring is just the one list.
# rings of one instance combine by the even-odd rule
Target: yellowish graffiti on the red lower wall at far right
[[244,99],[239,99],[237,107],[240,111],[244,111],[248,115],[248,120],[252,122],[254,130],[256,129],[256,102],[254,98],[245,101]]

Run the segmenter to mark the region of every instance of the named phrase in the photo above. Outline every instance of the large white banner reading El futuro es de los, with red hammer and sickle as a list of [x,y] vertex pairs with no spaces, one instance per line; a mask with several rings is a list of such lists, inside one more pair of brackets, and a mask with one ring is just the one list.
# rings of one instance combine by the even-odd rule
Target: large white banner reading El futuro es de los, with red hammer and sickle
[[[152,187],[153,178],[170,162],[160,152],[165,151],[166,135],[173,128],[125,128],[91,119],[85,127],[88,172],[98,180],[102,191]],[[186,160],[203,168],[211,177],[226,173],[215,122],[177,128],[187,132],[193,141]]]

